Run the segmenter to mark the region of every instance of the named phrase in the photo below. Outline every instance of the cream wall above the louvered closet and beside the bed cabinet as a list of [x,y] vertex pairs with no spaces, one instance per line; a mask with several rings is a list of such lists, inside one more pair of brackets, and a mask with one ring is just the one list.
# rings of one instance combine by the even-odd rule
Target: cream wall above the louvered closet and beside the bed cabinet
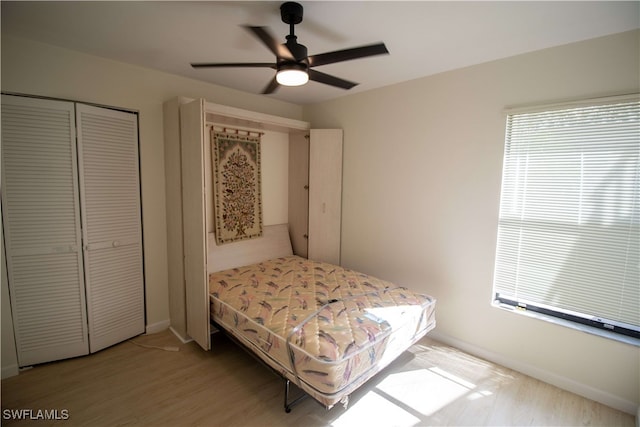
[[[151,329],[168,326],[163,102],[176,96],[205,98],[217,104],[298,120],[302,107],[4,35],[1,71],[3,92],[98,103],[139,112],[147,326]],[[286,198],[286,187],[284,191],[281,197]],[[4,288],[5,281],[3,319],[8,313]],[[4,357],[5,353],[15,352],[5,348],[5,343],[12,342],[12,327],[3,321],[3,368],[5,361],[10,362]]]

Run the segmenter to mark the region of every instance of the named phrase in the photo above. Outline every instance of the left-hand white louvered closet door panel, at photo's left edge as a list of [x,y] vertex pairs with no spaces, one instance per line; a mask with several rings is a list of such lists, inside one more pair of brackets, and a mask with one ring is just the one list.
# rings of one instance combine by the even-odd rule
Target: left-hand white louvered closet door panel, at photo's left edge
[[72,103],[2,96],[2,214],[18,363],[88,353]]

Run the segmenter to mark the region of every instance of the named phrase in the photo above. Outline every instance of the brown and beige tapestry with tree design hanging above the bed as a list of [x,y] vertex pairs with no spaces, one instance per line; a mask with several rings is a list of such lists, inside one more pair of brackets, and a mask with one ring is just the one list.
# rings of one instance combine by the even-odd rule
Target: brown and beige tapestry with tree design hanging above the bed
[[260,135],[211,129],[216,243],[262,236]]

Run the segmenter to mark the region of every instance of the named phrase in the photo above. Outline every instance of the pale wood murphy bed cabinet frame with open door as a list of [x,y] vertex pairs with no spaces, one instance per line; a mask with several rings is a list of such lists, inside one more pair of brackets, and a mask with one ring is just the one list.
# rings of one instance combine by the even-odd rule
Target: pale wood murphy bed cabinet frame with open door
[[[208,239],[213,232],[211,126],[289,136],[288,224],[296,255],[340,263],[342,130],[203,99],[164,104],[167,246],[171,329],[211,348]],[[272,225],[272,224],[265,224]]]

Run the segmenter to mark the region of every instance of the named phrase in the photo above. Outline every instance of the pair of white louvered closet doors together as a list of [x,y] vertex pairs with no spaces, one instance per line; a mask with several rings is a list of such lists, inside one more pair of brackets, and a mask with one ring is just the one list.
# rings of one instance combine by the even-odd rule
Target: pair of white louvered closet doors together
[[[20,366],[144,332],[137,118],[88,107],[98,125],[85,107],[2,95],[2,217]],[[113,154],[120,150],[128,157]],[[134,192],[120,186],[123,175]],[[110,248],[94,234],[112,238]]]

